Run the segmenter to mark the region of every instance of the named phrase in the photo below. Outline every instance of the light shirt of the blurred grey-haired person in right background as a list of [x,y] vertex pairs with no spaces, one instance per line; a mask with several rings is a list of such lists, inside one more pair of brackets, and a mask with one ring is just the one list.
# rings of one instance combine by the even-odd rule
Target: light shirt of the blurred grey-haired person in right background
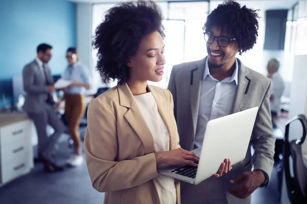
[[284,90],[284,82],[281,77],[281,75],[276,71],[273,73],[271,77],[271,83],[272,83],[272,93],[271,96],[273,96],[273,100],[270,100],[270,107],[271,111],[276,112],[277,114],[280,112],[280,98],[283,94]]

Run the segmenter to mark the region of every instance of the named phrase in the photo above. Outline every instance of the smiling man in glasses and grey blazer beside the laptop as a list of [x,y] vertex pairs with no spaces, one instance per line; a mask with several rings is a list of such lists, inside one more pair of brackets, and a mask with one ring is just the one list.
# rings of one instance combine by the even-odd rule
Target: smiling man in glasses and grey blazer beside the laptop
[[256,43],[258,18],[256,10],[237,2],[218,5],[204,27],[208,56],[172,68],[168,89],[173,94],[180,145],[186,150],[202,147],[209,120],[259,107],[245,159],[233,165],[230,172],[225,169],[227,174],[222,177],[209,178],[197,186],[182,182],[183,204],[250,203],[251,193],[269,184],[275,142],[271,83],[235,57]]

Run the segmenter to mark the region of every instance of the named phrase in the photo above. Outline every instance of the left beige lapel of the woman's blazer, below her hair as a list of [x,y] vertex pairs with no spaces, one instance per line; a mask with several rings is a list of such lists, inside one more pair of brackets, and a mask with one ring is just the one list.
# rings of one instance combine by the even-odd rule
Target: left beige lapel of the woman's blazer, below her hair
[[152,153],[154,150],[152,135],[128,85],[125,83],[118,86],[118,92],[120,105],[126,112],[124,117],[142,140],[145,154]]

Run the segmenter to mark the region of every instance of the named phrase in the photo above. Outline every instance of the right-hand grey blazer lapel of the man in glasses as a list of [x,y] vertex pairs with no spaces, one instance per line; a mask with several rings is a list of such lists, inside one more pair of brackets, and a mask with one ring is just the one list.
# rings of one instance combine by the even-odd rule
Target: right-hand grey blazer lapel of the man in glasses
[[236,92],[236,97],[232,108],[232,113],[237,113],[240,111],[240,108],[244,103],[244,100],[246,98],[251,83],[251,80],[248,77],[249,74],[248,69],[242,64],[242,62],[239,59],[237,59],[237,61],[239,67],[239,74],[238,74],[239,79],[238,79],[238,88]]

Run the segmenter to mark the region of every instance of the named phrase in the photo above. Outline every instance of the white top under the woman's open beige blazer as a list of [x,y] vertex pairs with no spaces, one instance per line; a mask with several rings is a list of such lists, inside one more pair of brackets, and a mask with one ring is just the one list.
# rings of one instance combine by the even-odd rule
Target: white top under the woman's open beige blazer
[[[146,121],[153,138],[153,146],[155,152],[169,150],[169,133],[167,127],[158,112],[157,103],[151,92],[136,95],[138,107]],[[175,180],[166,175],[158,173],[157,192],[161,204],[176,204],[176,187]]]

